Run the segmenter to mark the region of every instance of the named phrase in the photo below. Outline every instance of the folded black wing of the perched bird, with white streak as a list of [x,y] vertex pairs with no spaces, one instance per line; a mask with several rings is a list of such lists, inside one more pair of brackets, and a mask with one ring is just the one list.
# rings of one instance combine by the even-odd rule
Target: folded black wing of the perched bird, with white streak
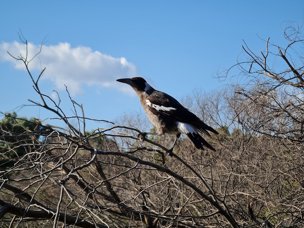
[[155,90],[147,99],[147,104],[151,112],[155,115],[163,115],[175,121],[192,124],[199,132],[210,136],[208,131],[218,134],[216,130],[204,123],[199,117],[182,106],[170,95]]

